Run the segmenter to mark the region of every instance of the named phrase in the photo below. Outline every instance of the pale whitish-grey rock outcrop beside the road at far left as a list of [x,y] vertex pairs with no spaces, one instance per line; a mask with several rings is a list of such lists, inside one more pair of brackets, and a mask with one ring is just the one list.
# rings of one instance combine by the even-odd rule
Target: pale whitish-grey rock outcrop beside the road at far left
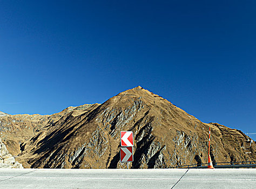
[[15,161],[14,157],[8,152],[6,146],[0,139],[0,168],[23,168],[22,164]]

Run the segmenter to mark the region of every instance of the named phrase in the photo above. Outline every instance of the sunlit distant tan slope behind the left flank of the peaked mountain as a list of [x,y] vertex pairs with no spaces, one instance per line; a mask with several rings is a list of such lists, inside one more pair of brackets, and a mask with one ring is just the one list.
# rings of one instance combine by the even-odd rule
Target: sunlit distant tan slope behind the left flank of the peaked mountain
[[10,115],[0,112],[0,138],[2,138],[8,151],[17,156],[21,153],[20,145],[25,141],[36,136],[46,127],[53,125],[65,114],[83,113],[91,106],[91,104],[84,104],[78,107],[67,107],[65,110],[52,115],[39,114],[17,114]]

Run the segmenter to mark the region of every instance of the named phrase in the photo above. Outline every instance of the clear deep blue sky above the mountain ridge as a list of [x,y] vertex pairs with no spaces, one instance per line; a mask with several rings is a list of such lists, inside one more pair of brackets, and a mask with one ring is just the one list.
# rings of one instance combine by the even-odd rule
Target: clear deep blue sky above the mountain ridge
[[1,1],[0,111],[52,114],[140,85],[254,133],[255,33],[256,1]]

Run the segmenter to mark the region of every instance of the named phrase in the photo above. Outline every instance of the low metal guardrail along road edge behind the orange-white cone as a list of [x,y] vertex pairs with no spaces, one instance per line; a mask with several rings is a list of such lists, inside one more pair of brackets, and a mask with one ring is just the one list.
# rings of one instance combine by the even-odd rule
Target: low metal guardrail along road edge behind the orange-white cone
[[[231,162],[214,162],[214,168],[246,168],[256,167],[256,161],[231,161]],[[207,164],[181,165],[170,168],[207,168]]]

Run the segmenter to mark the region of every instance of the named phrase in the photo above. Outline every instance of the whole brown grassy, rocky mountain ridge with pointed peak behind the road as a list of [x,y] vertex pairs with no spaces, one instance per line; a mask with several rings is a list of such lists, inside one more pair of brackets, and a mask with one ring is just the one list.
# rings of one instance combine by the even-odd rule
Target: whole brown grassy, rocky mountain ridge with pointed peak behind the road
[[2,138],[24,167],[121,168],[120,131],[134,133],[132,168],[207,163],[208,128],[214,161],[256,160],[244,133],[202,123],[168,100],[138,86],[103,104],[69,107],[50,116],[0,117]]

